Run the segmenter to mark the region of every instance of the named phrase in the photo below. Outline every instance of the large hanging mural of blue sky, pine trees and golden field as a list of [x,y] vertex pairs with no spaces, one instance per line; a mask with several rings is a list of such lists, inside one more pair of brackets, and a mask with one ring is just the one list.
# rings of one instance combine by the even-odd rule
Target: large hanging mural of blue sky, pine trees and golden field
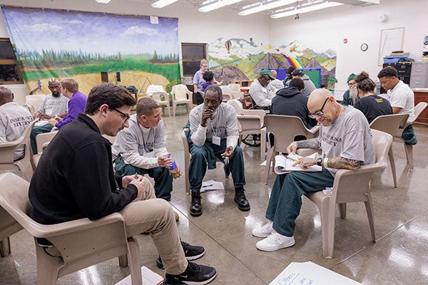
[[49,78],[73,77],[88,94],[108,81],[146,90],[180,79],[178,19],[2,6],[29,91],[48,93]]

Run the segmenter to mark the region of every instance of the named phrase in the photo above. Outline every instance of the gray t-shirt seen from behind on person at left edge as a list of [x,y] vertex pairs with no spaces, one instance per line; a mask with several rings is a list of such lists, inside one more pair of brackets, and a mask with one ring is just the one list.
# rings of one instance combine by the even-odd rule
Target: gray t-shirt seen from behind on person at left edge
[[[15,102],[0,106],[0,142],[19,139],[26,127],[33,121],[31,113]],[[16,149],[14,160],[24,156],[24,146]]]

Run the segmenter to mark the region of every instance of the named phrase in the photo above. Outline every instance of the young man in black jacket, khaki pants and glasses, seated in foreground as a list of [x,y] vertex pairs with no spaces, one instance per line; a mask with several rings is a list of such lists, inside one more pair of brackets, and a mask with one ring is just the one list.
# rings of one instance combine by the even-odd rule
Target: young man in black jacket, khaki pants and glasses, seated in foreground
[[156,199],[145,177],[113,174],[111,144],[102,135],[127,128],[135,104],[125,88],[111,83],[92,88],[85,113],[61,128],[39,160],[29,189],[30,217],[57,224],[120,212],[129,237],[151,234],[166,268],[164,284],[207,284],[217,272],[188,262],[170,204]]

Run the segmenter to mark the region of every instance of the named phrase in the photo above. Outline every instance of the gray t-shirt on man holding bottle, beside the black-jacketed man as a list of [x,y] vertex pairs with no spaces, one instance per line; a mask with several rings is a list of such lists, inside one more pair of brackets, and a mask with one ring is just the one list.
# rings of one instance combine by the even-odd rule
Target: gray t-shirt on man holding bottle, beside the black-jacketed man
[[158,167],[158,156],[168,152],[163,121],[157,127],[144,128],[137,122],[137,116],[131,115],[129,128],[118,133],[111,152],[113,160],[121,155],[128,165],[143,169]]

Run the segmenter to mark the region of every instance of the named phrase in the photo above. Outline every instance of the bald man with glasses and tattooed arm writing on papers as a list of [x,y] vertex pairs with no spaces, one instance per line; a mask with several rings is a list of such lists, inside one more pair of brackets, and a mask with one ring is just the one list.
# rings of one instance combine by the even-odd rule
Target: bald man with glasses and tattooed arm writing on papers
[[295,244],[295,219],[302,207],[302,195],[332,187],[337,170],[357,170],[360,165],[374,163],[372,134],[360,110],[340,105],[327,89],[312,91],[307,108],[310,117],[320,122],[320,135],[292,142],[287,152],[295,153],[299,148],[322,150],[318,158],[303,157],[295,162],[303,169],[320,165],[322,171],[277,175],[265,214],[268,222],[253,229],[255,237],[265,238],[256,244],[265,252]]

